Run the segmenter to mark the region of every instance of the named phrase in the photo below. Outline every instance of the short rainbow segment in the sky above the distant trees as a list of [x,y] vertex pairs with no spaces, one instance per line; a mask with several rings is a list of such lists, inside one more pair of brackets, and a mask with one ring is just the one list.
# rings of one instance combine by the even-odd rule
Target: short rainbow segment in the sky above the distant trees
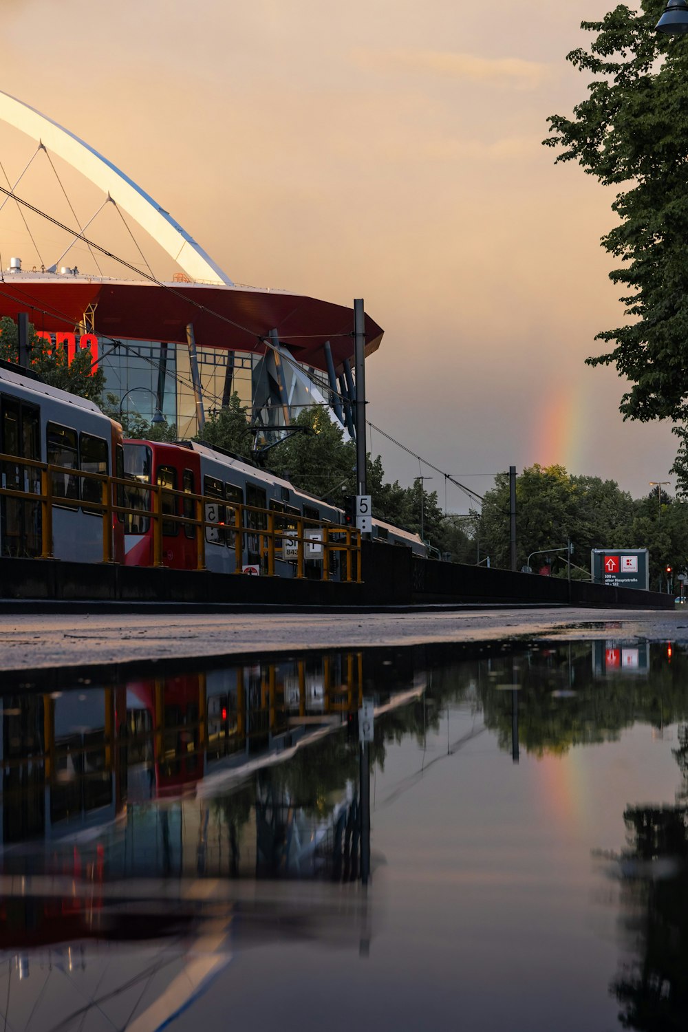
[[565,465],[578,473],[584,451],[585,399],[580,386],[557,384],[540,396],[530,455],[540,465]]

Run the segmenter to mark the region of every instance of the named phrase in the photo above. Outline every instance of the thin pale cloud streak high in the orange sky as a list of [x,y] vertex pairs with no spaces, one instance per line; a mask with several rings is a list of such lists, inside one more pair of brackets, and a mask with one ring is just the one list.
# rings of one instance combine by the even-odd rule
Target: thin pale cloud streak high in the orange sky
[[370,51],[356,50],[354,58],[368,67],[386,71],[454,78],[467,83],[536,90],[550,75],[550,65],[521,58],[481,58],[452,51]]

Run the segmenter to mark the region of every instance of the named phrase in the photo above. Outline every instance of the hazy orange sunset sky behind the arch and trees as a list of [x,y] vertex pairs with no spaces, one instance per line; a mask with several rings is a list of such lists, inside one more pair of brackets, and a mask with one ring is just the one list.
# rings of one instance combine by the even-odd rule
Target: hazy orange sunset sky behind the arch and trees
[[[122,168],[236,282],[362,296],[386,331],[369,418],[440,469],[556,461],[640,495],[668,479],[675,439],[623,423],[623,385],[584,365],[622,319],[598,244],[613,197],[540,146],[585,93],[564,61],[580,22],[611,6],[4,0],[0,89]],[[32,146],[0,140],[11,179]],[[4,216],[2,262],[19,249],[26,267]],[[388,476],[419,474],[374,431],[372,447]],[[426,488],[445,504],[440,476]]]

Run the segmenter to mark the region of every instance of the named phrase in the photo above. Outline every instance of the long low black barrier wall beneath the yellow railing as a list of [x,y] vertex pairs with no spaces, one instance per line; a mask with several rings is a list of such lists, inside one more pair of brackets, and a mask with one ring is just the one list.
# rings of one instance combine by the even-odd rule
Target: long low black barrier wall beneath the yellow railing
[[603,587],[536,574],[437,562],[407,548],[363,542],[363,582],[339,584],[280,577],[0,559],[0,599],[275,605],[308,607],[418,605],[574,605],[674,609],[674,596],[657,591]]

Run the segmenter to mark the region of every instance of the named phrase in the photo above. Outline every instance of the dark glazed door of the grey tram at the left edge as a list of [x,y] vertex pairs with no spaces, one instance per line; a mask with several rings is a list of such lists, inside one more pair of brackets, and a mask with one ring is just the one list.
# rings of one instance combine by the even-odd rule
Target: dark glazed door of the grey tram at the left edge
[[[20,460],[40,460],[39,416],[35,405],[10,397],[0,399],[0,452],[17,457],[0,463],[2,486],[28,495],[40,493],[40,472]],[[40,503],[2,495],[0,534],[3,555],[40,555]]]

